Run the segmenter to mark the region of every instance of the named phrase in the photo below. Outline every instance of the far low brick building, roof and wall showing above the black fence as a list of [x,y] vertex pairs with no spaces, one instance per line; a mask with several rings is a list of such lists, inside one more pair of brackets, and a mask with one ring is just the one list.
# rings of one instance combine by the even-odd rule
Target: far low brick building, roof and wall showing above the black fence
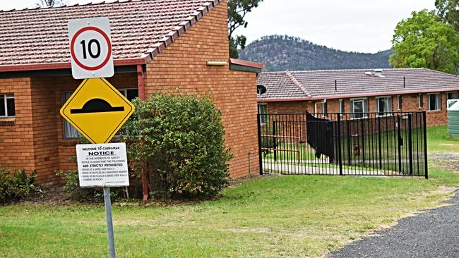
[[261,113],[427,111],[427,125],[445,125],[446,102],[459,98],[459,76],[426,68],[261,73]]

